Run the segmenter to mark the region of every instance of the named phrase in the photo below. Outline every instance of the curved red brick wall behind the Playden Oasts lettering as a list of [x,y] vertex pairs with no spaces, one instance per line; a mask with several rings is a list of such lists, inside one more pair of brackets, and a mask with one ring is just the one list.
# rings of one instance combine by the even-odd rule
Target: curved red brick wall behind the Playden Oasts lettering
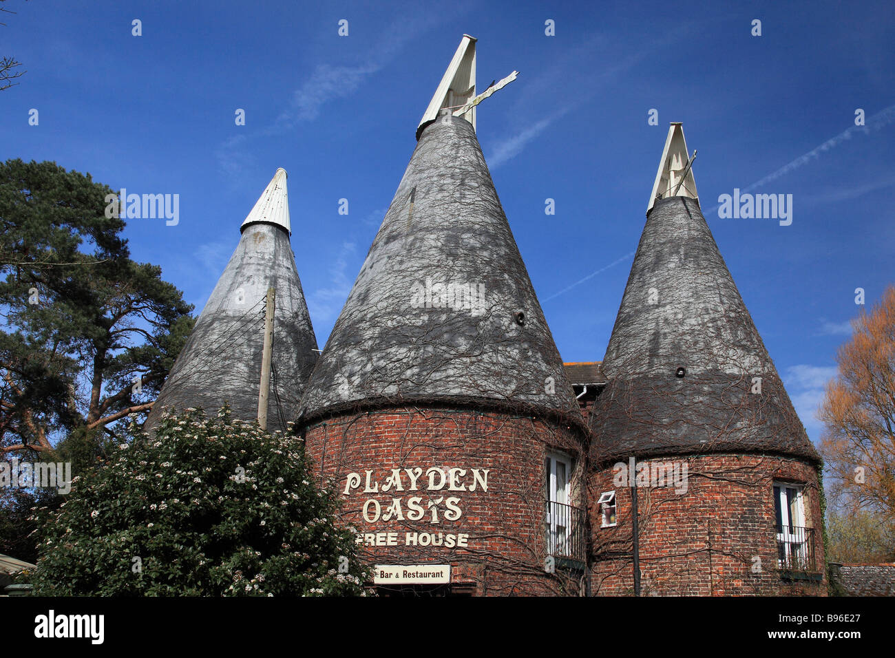
[[[341,522],[354,526],[367,538],[388,542],[394,533],[394,546],[364,544],[364,559],[380,564],[447,564],[452,565],[452,580],[474,585],[475,594],[556,594],[577,595],[581,574],[558,568],[556,573],[544,571],[546,542],[544,530],[544,457],[548,447],[561,449],[575,459],[573,496],[581,505],[584,482],[581,438],[566,427],[531,417],[510,414],[480,413],[456,409],[395,408],[350,414],[316,423],[306,428],[306,449],[314,472],[327,487],[343,494]],[[426,491],[426,471],[440,467],[466,469],[456,474],[456,488],[448,484],[439,491]],[[405,491],[381,491],[391,469],[400,470]],[[422,468],[410,491],[410,477],[405,468]],[[475,491],[471,469],[488,469],[487,491],[481,481]],[[371,488],[364,492],[366,471],[371,470]],[[362,483],[345,495],[349,474],[360,474]],[[440,481],[434,474],[436,484]],[[426,508],[422,519],[408,518],[409,503],[418,497],[417,505]],[[445,517],[447,498],[462,511],[456,520]],[[435,501],[443,498],[437,506]],[[380,514],[398,499],[403,520],[396,517],[370,522],[362,515],[367,500],[379,502]],[[438,523],[432,523],[429,503],[437,508]],[[583,507],[583,505],[582,505]],[[374,504],[368,508],[376,516]],[[456,514],[456,513],[454,513]],[[380,534],[378,537],[375,536]],[[407,533],[467,535],[465,547],[406,545]],[[456,540],[455,540],[456,541]]]

